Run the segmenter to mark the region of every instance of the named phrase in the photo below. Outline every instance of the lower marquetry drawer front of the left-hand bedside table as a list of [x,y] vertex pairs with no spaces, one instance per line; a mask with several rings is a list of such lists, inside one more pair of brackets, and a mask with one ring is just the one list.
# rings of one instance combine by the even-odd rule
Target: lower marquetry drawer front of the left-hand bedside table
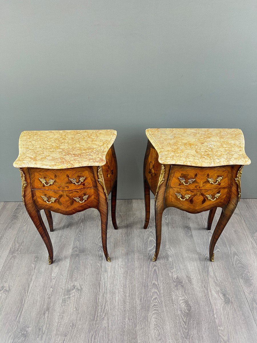
[[96,188],[72,191],[33,189],[32,195],[38,210],[44,209],[62,214],[73,214],[98,206]]

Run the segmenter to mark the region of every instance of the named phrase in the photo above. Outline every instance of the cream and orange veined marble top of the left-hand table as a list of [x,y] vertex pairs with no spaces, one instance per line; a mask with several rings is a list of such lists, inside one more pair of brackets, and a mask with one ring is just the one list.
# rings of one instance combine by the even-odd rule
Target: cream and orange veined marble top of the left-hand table
[[106,164],[115,130],[23,131],[14,167],[65,169]]

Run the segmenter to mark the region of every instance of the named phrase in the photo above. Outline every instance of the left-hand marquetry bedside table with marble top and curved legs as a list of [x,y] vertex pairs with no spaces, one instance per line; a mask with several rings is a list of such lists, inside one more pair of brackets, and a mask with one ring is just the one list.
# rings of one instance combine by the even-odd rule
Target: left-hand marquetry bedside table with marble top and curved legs
[[50,231],[52,212],[65,215],[89,208],[100,212],[102,247],[107,251],[108,195],[112,224],[116,223],[117,159],[114,130],[24,131],[19,156],[13,163],[22,180],[22,200],[53,262],[51,239],[42,221],[44,210]]

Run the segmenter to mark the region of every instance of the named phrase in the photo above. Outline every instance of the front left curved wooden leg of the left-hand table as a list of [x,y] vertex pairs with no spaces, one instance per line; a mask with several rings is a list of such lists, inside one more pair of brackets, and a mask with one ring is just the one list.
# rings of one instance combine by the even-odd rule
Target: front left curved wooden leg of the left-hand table
[[32,219],[34,225],[36,226],[40,236],[42,237],[47,251],[48,251],[48,264],[51,264],[53,262],[53,246],[52,246],[52,242],[51,239],[49,237],[49,234],[47,232],[47,229],[45,227],[45,224],[42,220],[41,214],[40,212],[35,208],[34,204],[29,204],[27,205],[25,203],[25,207],[26,210],[30,216],[30,218]]

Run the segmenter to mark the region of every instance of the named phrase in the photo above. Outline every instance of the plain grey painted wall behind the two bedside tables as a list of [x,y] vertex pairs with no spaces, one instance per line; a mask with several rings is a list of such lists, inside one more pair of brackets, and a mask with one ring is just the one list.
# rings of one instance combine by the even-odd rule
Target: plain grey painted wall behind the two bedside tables
[[1,201],[23,130],[109,129],[119,198],[143,198],[149,127],[241,128],[256,198],[256,0],[2,2]]

